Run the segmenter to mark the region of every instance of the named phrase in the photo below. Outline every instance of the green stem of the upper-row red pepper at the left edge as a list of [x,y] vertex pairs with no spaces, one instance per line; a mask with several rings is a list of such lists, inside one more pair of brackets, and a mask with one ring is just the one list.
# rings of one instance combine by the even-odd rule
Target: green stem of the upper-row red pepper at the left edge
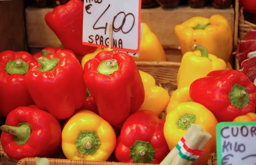
[[22,59],[10,60],[5,67],[9,74],[26,74],[29,71],[29,64]]

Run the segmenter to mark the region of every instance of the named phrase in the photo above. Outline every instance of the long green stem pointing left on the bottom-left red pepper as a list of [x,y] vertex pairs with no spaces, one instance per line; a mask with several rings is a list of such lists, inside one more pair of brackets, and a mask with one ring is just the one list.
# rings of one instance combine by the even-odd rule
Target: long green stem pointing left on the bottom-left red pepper
[[17,145],[24,145],[29,140],[31,129],[28,123],[20,123],[17,127],[3,125],[0,127],[2,131],[5,131],[9,134],[13,134],[14,140]]

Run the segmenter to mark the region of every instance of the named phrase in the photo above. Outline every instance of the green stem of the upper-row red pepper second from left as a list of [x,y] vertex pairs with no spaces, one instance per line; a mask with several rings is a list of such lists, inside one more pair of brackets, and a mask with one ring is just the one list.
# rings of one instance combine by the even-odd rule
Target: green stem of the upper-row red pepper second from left
[[38,68],[38,71],[51,71],[57,66],[59,61],[60,59],[57,58],[47,59],[46,57],[39,57],[38,63],[41,64],[41,67]]

